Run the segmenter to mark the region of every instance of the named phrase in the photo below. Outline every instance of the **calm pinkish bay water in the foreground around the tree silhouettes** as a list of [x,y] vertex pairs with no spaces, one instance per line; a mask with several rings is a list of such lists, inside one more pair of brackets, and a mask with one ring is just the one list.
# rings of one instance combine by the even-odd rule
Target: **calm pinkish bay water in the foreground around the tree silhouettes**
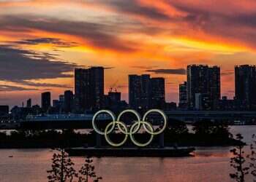
[[[256,126],[233,126],[233,134],[241,132],[249,142]],[[97,174],[103,181],[172,181],[172,182],[230,182],[230,148],[200,148],[195,157],[184,158],[95,158]],[[44,182],[50,169],[53,151],[49,149],[0,150],[0,181]],[[13,156],[10,158],[9,156]],[[77,167],[83,157],[72,157]]]

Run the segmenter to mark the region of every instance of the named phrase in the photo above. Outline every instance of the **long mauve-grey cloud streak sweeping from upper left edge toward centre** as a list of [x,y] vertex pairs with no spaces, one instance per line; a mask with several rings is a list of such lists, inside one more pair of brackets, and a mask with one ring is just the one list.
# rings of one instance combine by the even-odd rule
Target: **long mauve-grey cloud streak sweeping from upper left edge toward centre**
[[[72,36],[80,36],[91,46],[119,51],[135,51],[129,42],[124,41],[115,34],[115,29],[101,23],[89,23],[85,21],[59,20],[47,17],[33,16],[1,16],[1,30],[5,31],[50,31],[64,33]],[[41,40],[42,41],[42,40]],[[135,43],[133,43],[135,45]]]

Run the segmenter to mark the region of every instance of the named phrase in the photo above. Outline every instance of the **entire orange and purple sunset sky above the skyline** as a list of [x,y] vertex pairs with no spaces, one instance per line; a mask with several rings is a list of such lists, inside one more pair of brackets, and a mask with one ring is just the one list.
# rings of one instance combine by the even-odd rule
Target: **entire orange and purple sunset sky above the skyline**
[[0,0],[0,105],[73,90],[78,66],[104,66],[105,92],[127,100],[128,74],[165,77],[178,101],[188,64],[221,66],[233,98],[234,66],[256,64],[255,0]]

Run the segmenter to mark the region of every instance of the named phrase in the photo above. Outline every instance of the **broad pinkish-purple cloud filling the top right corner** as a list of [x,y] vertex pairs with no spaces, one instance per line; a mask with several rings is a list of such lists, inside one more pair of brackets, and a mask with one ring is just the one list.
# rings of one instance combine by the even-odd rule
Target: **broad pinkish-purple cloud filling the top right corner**
[[[218,0],[214,3],[186,0],[169,2],[184,13],[180,17],[180,23],[187,23],[189,31],[200,31],[206,33],[206,36],[214,36],[215,39],[242,42],[256,47],[256,13],[249,10],[250,3],[223,3]],[[251,9],[255,9],[255,5],[251,3]]]

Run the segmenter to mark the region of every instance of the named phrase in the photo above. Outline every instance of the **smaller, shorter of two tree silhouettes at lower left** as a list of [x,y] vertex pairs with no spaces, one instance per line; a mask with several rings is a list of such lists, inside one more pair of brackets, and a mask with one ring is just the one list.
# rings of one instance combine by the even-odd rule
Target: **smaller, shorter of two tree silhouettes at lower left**
[[99,180],[101,180],[102,177],[97,177],[96,173],[94,172],[95,167],[92,164],[93,159],[91,159],[91,157],[86,157],[85,162],[86,163],[79,170],[79,173],[82,176],[79,177],[78,182],[89,182],[90,179],[91,181],[94,181],[94,182],[98,182]]

